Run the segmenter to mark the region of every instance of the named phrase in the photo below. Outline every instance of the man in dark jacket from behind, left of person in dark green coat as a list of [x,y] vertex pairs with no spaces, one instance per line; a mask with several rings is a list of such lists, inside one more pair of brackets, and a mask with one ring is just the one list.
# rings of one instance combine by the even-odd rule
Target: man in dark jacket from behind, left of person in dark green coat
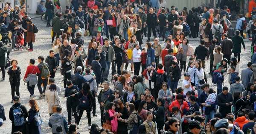
[[230,64],[232,49],[234,45],[232,40],[227,38],[227,33],[224,33],[222,38],[223,40],[221,41],[221,51],[223,53],[223,59],[226,58],[228,61],[228,64]]

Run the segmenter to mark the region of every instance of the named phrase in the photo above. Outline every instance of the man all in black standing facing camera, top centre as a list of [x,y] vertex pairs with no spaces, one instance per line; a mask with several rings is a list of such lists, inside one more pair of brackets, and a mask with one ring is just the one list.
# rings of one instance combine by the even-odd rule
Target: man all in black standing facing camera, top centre
[[148,26],[148,40],[147,40],[147,42],[149,42],[150,37],[151,37],[151,29],[153,31],[154,37],[157,38],[157,33],[156,33],[157,14],[153,12],[153,8],[149,8],[149,13],[147,14],[147,23],[146,23],[146,25]]

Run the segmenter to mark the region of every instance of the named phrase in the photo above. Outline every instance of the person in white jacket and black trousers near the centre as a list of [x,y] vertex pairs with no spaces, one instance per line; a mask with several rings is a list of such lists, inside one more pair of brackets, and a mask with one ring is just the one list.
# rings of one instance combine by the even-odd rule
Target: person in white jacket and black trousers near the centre
[[140,62],[141,62],[141,50],[140,50],[140,45],[136,44],[134,45],[134,50],[132,51],[132,58],[134,62],[134,75],[139,75],[140,73]]

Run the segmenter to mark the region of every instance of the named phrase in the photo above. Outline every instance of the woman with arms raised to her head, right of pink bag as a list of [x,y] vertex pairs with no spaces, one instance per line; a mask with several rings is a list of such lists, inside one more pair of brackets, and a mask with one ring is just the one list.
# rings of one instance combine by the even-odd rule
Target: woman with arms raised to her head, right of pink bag
[[119,34],[122,36],[122,38],[125,38],[125,40],[128,40],[128,29],[130,28],[130,21],[131,19],[126,16],[122,15],[122,19],[120,22],[120,27],[119,27]]

